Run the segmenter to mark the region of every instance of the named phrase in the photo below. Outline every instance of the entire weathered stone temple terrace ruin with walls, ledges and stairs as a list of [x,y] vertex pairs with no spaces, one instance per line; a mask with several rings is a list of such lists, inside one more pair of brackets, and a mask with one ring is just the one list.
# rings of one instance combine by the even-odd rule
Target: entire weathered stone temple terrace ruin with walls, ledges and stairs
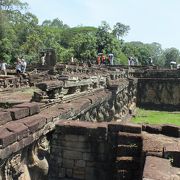
[[0,82],[0,180],[180,179],[180,127],[131,123],[136,105],[180,109],[178,70],[57,64]]

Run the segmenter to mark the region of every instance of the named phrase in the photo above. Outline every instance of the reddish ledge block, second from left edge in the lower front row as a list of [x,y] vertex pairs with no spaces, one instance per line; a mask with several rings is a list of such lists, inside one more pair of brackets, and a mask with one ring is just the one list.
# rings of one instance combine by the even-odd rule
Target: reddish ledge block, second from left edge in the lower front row
[[27,126],[25,126],[23,123],[14,121],[8,123],[6,125],[6,128],[16,135],[17,140],[21,140],[22,138],[27,137],[29,133],[29,129]]

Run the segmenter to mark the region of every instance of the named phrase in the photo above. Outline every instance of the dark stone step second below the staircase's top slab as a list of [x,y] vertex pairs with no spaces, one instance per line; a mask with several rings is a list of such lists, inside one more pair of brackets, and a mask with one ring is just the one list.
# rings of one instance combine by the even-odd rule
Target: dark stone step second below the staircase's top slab
[[133,156],[139,157],[141,155],[142,148],[138,145],[118,145],[117,156]]

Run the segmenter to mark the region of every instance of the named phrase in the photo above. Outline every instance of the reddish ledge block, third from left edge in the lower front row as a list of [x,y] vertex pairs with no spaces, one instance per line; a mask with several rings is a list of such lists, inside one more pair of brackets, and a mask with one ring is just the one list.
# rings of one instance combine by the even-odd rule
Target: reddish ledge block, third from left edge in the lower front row
[[28,127],[30,133],[36,132],[46,124],[46,118],[40,115],[29,116],[19,120],[18,122],[23,123]]

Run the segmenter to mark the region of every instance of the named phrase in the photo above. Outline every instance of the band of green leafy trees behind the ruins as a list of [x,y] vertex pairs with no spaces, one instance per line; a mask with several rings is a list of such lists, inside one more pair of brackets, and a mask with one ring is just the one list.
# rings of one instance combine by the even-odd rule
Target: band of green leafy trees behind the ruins
[[176,48],[163,50],[157,42],[125,42],[123,37],[129,33],[130,26],[121,22],[113,28],[106,21],[99,27],[70,27],[59,18],[39,24],[27,7],[21,0],[0,0],[0,58],[8,63],[17,56],[37,62],[39,51],[44,48],[54,48],[59,62],[68,62],[71,57],[79,61],[94,60],[98,53],[113,53],[118,64],[127,64],[128,57],[138,59],[141,65],[148,65],[149,58],[155,65],[165,67],[171,61],[180,63]]

